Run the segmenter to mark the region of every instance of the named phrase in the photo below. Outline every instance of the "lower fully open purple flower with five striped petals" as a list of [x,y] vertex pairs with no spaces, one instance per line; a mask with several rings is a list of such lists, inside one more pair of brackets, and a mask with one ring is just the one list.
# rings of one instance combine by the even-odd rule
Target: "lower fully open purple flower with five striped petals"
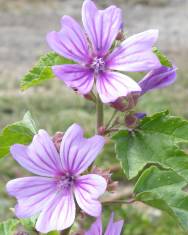
[[18,200],[16,216],[39,215],[36,229],[42,233],[63,230],[74,222],[75,196],[84,212],[98,217],[101,213],[98,197],[106,190],[106,180],[96,174],[81,174],[95,160],[103,145],[103,137],[96,135],[85,139],[83,130],[74,124],[63,136],[60,153],[44,130],[34,136],[29,146],[12,146],[14,159],[39,175],[8,182],[8,193]]

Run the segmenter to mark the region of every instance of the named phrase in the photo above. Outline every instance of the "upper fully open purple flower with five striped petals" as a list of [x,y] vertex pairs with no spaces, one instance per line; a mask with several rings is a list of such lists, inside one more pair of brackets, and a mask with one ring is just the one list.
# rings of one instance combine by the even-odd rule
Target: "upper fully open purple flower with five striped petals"
[[82,22],[84,30],[73,18],[64,16],[61,30],[47,35],[52,50],[77,63],[53,66],[55,75],[82,95],[96,87],[104,103],[139,92],[139,85],[117,70],[141,72],[158,68],[160,62],[152,52],[158,30],[136,34],[114,48],[122,27],[121,10],[115,6],[98,10],[91,0],[83,3]]

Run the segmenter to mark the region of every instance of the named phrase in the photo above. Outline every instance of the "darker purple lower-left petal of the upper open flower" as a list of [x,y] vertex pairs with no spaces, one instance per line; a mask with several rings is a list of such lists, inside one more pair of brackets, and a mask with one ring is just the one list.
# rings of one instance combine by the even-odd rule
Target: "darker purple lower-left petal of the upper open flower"
[[53,66],[55,75],[68,87],[77,89],[81,94],[91,91],[94,83],[93,72],[78,64]]

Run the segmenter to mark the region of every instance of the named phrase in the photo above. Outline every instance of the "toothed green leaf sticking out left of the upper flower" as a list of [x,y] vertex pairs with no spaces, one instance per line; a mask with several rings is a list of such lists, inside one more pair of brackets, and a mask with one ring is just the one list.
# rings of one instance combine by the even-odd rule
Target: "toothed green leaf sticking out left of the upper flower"
[[49,52],[40,57],[36,65],[22,78],[20,87],[22,90],[26,90],[30,87],[40,85],[44,81],[55,77],[51,69],[53,65],[72,63],[69,59],[63,58],[54,52]]

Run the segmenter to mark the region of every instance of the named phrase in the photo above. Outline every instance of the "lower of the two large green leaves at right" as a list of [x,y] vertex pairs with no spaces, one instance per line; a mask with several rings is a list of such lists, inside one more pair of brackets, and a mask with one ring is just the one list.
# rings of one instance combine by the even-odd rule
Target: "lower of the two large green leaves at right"
[[167,212],[188,230],[188,194],[182,191],[186,185],[174,171],[150,167],[139,178],[134,193],[136,200]]

